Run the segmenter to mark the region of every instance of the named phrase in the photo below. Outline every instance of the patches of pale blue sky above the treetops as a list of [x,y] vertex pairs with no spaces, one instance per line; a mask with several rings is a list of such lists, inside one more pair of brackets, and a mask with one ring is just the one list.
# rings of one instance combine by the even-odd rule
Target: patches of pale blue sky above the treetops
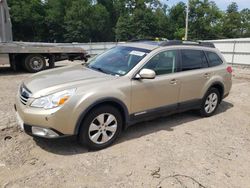
[[[163,3],[166,3],[169,6],[172,6],[178,2],[184,2],[186,3],[187,0],[162,0]],[[221,9],[221,10],[226,10],[227,6],[231,3],[231,2],[236,2],[239,6],[239,10],[242,10],[244,8],[250,8],[250,0],[213,0],[217,6]]]

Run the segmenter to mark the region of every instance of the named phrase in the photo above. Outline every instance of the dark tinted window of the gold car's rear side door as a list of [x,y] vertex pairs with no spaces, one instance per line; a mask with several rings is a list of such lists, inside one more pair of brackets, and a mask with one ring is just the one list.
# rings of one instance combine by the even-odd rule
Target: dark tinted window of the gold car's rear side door
[[205,53],[201,50],[181,50],[182,71],[208,67]]

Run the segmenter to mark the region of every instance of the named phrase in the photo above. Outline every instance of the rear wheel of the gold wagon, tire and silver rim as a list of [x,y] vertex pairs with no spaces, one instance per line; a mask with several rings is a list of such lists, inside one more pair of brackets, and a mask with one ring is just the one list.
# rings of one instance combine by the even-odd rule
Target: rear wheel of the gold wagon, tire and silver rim
[[220,93],[216,88],[210,88],[202,99],[200,115],[210,117],[216,112],[221,100]]

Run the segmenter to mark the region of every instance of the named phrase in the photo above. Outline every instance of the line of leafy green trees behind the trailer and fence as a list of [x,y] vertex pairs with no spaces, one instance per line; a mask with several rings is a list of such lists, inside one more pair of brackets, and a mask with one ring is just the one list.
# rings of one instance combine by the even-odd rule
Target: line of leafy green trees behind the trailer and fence
[[[159,0],[8,0],[16,41],[102,42],[182,39],[186,4]],[[189,40],[250,37],[250,9],[189,1]]]

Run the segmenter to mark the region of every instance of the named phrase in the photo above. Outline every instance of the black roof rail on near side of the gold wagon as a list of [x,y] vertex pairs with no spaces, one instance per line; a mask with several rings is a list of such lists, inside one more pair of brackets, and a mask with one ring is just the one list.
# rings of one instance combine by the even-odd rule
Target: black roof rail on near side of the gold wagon
[[181,41],[181,40],[169,40],[164,41],[160,46],[174,46],[174,45],[185,45],[185,46],[204,46],[209,48],[215,48],[212,42],[202,42],[202,41]]

